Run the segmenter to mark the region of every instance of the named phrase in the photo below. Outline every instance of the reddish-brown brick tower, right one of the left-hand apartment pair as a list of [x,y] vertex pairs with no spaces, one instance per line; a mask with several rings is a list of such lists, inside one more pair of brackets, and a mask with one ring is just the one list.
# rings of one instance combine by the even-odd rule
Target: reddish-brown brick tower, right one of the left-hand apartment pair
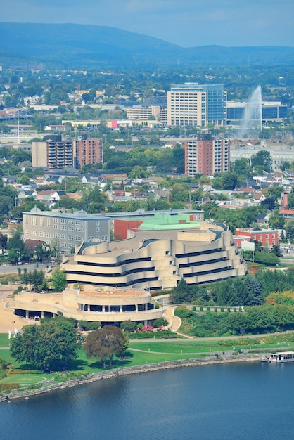
[[82,136],[73,143],[76,168],[103,162],[103,145],[100,139]]

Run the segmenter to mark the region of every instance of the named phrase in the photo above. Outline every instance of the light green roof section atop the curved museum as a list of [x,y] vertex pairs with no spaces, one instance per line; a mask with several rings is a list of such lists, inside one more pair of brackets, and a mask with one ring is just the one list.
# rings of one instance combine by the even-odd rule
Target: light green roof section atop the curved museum
[[141,231],[157,231],[160,229],[191,229],[200,228],[200,221],[191,220],[190,214],[156,213],[152,218],[144,218],[139,226]]

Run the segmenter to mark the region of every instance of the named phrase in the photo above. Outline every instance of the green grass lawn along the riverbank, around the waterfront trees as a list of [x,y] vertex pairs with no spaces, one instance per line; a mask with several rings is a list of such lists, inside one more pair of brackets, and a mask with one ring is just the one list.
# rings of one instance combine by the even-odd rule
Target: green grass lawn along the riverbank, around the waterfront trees
[[[266,339],[266,338],[264,338]],[[276,347],[280,347],[280,350],[288,351],[294,349],[293,342],[283,343],[283,335],[276,335],[275,341],[272,343],[260,343],[260,339],[231,339],[222,341],[209,340],[198,341],[189,339],[177,339],[177,340],[166,340],[155,341],[151,339],[150,341],[130,341],[129,349],[127,349],[126,358],[114,359],[113,368],[121,367],[131,367],[134,365],[146,365],[148,363],[160,363],[164,361],[177,361],[180,359],[191,359],[205,356],[205,354],[210,354],[210,352],[222,352],[222,351],[232,351],[233,348],[238,351],[238,349],[250,349],[254,351],[255,349],[262,349],[262,351],[276,351]],[[267,341],[269,342],[269,341]],[[271,341],[270,341],[271,342]],[[8,335],[0,335],[0,347],[8,346]],[[133,351],[132,349],[137,349],[141,351]],[[21,364],[15,362],[11,358],[9,349],[0,350],[0,358],[6,363],[12,363],[13,368],[29,370],[32,369],[32,365]],[[108,365],[108,363],[107,363]],[[76,361],[72,362],[67,372],[60,372],[56,375],[57,382],[63,382],[68,380],[70,375],[75,376],[77,374],[83,373],[98,373],[103,371],[102,365],[95,358],[88,359],[84,350],[79,349],[78,358]],[[35,384],[39,382],[44,382],[50,380],[52,375],[41,373],[25,373],[25,374],[15,374],[9,375],[4,379],[0,380],[0,384],[15,382],[20,384],[20,386]]]

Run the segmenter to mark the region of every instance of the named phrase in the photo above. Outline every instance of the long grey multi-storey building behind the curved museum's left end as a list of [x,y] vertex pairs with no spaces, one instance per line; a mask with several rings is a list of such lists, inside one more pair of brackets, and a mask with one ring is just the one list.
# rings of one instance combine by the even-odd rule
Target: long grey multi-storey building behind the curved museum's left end
[[100,214],[41,211],[34,207],[23,213],[24,239],[55,243],[60,252],[70,253],[73,247],[92,238],[110,239],[110,218]]

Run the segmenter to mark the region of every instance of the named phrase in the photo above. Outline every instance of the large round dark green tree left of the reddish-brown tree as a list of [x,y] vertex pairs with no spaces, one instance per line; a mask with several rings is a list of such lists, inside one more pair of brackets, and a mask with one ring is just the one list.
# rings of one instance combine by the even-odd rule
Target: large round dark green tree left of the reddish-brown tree
[[40,325],[25,325],[11,339],[11,356],[43,371],[60,370],[77,358],[77,330],[67,318],[44,318]]

